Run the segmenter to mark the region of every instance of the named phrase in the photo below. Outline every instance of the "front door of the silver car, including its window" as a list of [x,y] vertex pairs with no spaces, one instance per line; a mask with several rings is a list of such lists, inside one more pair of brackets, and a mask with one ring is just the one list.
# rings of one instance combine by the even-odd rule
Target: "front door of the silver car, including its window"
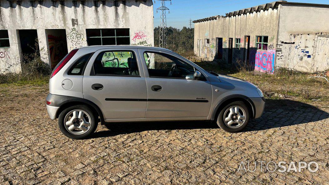
[[204,117],[209,114],[212,86],[202,75],[187,80],[194,67],[174,55],[139,49],[147,86],[146,118]]

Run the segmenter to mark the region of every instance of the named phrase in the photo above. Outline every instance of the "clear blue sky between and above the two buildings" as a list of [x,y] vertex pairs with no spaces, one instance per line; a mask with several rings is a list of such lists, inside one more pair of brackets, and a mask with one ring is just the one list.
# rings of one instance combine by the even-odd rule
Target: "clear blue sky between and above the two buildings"
[[[166,14],[167,26],[182,29],[183,26],[190,26],[190,19],[193,21],[214,15],[225,15],[225,13],[228,12],[262,5],[273,1],[274,0],[172,0],[172,5],[170,5],[170,1],[166,1],[166,7],[170,9],[170,13],[168,14],[167,12]],[[329,4],[329,0],[292,0],[289,2]],[[160,5],[161,3],[158,0],[156,0],[156,3],[153,5],[155,27],[160,24],[160,11],[156,13],[156,9],[159,8]]]

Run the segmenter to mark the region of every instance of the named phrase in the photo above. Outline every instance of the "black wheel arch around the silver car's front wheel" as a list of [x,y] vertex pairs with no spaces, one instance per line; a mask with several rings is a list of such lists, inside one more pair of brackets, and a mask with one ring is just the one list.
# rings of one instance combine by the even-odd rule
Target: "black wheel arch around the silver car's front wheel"
[[224,108],[224,106],[232,103],[232,102],[236,102],[236,101],[242,101],[243,103],[245,103],[249,109],[249,112],[251,112],[250,114],[250,119],[254,119],[255,118],[255,105],[252,102],[252,100],[244,95],[240,95],[240,94],[234,94],[234,95],[229,95],[225,98],[223,98],[222,100],[220,100],[217,105],[215,106],[214,110],[213,110],[213,114],[211,115],[211,120],[215,120],[216,116],[219,114],[219,112]]

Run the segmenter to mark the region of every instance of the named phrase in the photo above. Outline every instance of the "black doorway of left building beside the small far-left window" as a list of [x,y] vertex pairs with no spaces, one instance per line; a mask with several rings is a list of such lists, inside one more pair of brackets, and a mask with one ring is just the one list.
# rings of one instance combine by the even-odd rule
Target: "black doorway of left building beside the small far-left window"
[[20,51],[27,62],[36,55],[40,56],[37,30],[18,30]]

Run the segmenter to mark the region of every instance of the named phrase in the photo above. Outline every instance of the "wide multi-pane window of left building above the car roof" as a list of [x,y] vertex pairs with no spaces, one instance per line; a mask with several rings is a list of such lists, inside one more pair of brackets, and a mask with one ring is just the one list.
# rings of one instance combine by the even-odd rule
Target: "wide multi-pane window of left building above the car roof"
[[87,44],[93,45],[130,45],[129,28],[86,29]]

